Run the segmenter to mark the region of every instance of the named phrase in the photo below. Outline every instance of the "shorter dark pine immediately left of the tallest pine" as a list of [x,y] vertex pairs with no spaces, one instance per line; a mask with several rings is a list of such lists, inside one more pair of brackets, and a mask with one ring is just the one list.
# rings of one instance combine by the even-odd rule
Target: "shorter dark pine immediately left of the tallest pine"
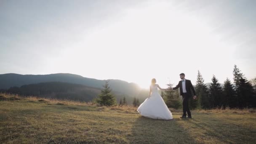
[[224,87],[223,87],[223,106],[224,108],[226,107],[234,108],[237,105],[236,101],[237,101],[237,98],[235,96],[235,90],[233,88],[233,85],[231,84],[231,81],[227,78],[224,81]]

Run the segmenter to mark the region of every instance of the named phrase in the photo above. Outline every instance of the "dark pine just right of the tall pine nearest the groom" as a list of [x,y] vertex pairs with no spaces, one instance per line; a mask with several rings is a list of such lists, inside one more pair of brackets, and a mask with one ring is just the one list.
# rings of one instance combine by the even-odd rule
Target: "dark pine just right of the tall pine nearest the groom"
[[219,80],[213,75],[213,78],[211,79],[212,83],[210,85],[210,107],[221,107],[223,102],[222,97],[222,88],[221,84],[219,83]]

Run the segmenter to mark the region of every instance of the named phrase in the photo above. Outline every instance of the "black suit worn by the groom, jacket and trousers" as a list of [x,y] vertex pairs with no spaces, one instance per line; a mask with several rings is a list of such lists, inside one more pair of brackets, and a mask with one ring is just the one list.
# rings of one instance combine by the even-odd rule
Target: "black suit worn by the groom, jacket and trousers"
[[173,90],[176,90],[177,88],[179,88],[180,95],[182,96],[183,116],[186,116],[186,112],[188,116],[191,116],[191,112],[189,110],[189,98],[192,96],[191,90],[193,91],[194,96],[196,94],[195,94],[195,89],[190,80],[185,80],[185,86],[186,86],[187,93],[183,93],[182,80],[179,81],[179,84],[176,85],[176,87],[174,87]]

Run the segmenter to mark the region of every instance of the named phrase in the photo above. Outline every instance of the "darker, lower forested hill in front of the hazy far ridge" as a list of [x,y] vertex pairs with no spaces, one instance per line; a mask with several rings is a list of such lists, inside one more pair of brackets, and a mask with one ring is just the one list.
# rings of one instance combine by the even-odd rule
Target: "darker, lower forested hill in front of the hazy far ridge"
[[[0,90],[0,93],[14,93],[20,96],[37,96],[52,99],[69,99],[75,101],[92,101],[97,98],[100,88],[92,88],[81,84],[64,83],[64,82],[45,82],[37,84],[22,85],[21,87],[11,87]],[[126,98],[128,104],[132,104],[133,97],[124,95],[117,91],[112,91],[117,102],[123,97]],[[143,93],[140,93],[143,94]],[[145,98],[140,97],[140,101]]]

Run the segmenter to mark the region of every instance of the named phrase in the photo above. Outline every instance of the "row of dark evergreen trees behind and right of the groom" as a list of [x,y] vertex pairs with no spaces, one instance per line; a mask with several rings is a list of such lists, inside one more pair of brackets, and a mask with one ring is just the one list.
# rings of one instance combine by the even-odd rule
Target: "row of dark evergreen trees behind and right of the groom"
[[[227,78],[224,86],[221,86],[215,75],[212,77],[210,88],[204,83],[200,71],[197,74],[195,91],[197,99],[189,100],[191,109],[212,109],[212,108],[251,108],[256,107],[256,78],[248,81],[240,69],[235,65],[233,70],[233,81]],[[168,84],[171,88],[172,85]],[[168,107],[180,108],[181,99],[179,92],[165,91],[163,93],[165,103]]]

